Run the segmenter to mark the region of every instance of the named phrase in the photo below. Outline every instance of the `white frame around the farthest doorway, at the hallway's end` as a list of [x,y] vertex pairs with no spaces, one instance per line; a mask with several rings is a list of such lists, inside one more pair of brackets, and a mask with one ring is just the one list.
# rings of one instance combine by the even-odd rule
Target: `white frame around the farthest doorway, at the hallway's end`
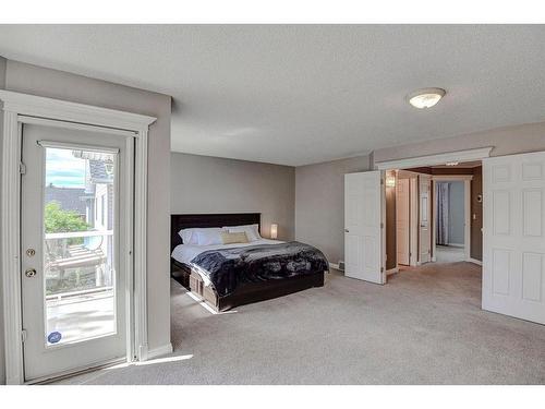
[[437,196],[435,192],[437,191],[437,182],[455,182],[463,181],[463,252],[464,260],[471,262],[471,181],[473,176],[471,175],[456,175],[456,176],[432,176],[433,183],[433,195],[432,195],[432,261],[437,261],[436,254],[436,228],[437,228]]

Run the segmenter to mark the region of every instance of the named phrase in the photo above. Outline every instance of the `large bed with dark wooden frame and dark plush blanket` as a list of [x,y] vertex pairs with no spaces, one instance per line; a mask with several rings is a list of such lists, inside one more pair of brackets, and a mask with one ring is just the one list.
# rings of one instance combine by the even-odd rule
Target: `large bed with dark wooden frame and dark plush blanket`
[[324,286],[327,260],[307,244],[258,238],[196,246],[183,243],[179,234],[189,228],[246,225],[257,225],[261,231],[261,214],[171,215],[172,277],[215,311]]

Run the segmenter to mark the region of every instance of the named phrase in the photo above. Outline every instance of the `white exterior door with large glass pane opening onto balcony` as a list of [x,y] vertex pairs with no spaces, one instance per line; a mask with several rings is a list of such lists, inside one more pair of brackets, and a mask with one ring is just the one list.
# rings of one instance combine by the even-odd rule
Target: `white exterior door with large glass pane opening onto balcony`
[[24,124],[22,161],[25,381],[124,358],[132,148],[107,130]]

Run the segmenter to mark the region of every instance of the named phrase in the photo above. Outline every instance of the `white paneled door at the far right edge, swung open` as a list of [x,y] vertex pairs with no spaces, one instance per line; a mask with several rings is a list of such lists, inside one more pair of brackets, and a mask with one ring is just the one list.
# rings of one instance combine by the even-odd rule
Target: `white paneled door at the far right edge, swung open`
[[483,309],[545,324],[545,152],[483,160]]

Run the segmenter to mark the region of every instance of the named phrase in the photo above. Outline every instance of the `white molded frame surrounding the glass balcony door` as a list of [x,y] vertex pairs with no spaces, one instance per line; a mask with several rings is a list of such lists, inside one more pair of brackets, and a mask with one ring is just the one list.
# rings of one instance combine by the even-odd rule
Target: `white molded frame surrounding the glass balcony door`
[[7,384],[24,383],[20,262],[23,123],[92,129],[134,137],[134,207],[128,209],[133,212],[134,208],[134,226],[130,227],[132,230],[129,236],[134,239],[133,250],[126,255],[133,264],[133,275],[131,277],[129,274],[126,280],[129,296],[126,322],[130,329],[126,359],[146,360],[147,133],[156,118],[2,89],[0,89],[0,101],[3,103],[0,273],[3,281]]

